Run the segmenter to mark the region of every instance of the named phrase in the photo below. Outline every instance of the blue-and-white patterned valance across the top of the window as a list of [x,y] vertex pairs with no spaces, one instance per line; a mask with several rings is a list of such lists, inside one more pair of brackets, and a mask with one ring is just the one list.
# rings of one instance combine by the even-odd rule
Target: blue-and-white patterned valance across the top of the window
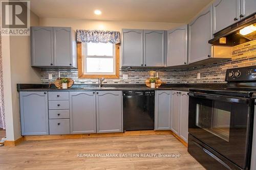
[[76,30],[76,41],[117,44],[120,43],[120,33],[118,31]]

